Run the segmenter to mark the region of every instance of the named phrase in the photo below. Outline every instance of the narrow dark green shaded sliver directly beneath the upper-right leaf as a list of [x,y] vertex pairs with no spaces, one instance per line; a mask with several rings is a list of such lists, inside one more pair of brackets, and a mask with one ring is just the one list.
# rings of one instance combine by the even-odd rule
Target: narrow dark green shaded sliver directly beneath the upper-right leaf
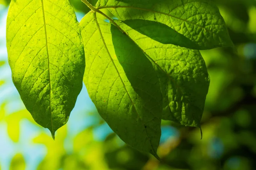
[[200,49],[193,41],[165,24],[149,20],[125,20],[129,27],[163,44],[179,45],[180,47]]

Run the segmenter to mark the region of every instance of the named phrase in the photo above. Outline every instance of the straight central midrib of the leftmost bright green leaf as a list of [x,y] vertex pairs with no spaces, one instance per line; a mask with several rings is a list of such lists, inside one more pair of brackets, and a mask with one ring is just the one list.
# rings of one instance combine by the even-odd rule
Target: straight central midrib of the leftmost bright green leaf
[[[50,60],[49,60],[49,50],[48,50],[48,40],[47,40],[47,29],[46,29],[46,20],[45,20],[45,11],[44,11],[44,0],[41,0],[42,3],[42,12],[43,12],[43,18],[44,18],[44,31],[45,31],[45,42],[46,42],[46,50],[47,50],[47,59],[48,59],[48,77],[49,77],[49,107],[50,107],[50,113],[51,113],[51,126],[52,126],[52,105],[51,105],[51,92],[52,92],[52,85],[51,85],[51,76],[50,76]],[[54,132],[53,132],[53,126],[52,126],[52,137],[54,139]]]

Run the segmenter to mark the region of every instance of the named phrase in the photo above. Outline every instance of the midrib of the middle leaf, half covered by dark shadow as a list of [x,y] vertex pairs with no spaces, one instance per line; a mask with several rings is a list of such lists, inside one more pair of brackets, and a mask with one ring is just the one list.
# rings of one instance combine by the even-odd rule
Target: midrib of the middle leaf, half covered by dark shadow
[[[104,16],[104,15],[103,15],[103,16]],[[110,54],[110,52],[109,52],[109,50],[108,50],[108,47],[107,47],[107,45],[106,45],[106,42],[105,42],[105,40],[104,40],[104,37],[103,37],[103,35],[102,35],[102,31],[101,31],[101,29],[100,29],[100,26],[99,26],[99,23],[98,23],[98,20],[97,20],[97,17],[96,17],[96,12],[93,12],[93,17],[94,17],[94,19],[95,19],[96,26],[97,26],[97,28],[99,29],[99,34],[100,34],[100,36],[101,36],[102,42],[103,42],[103,44],[104,44],[104,47],[106,48],[106,50],[107,50],[107,52],[108,52],[108,56],[110,57],[111,62],[113,63],[113,65],[114,65],[114,67],[115,67],[115,69],[116,69],[116,72],[117,72],[117,74],[118,74],[118,76],[119,76],[119,78],[120,78],[120,80],[121,80],[121,82],[122,82],[122,85],[124,86],[125,91],[126,91],[128,97],[129,97],[129,99],[130,99],[132,105],[134,106],[134,109],[135,109],[135,111],[136,111],[136,113],[137,113],[138,118],[141,120],[141,122],[143,122],[143,120],[140,118],[140,115],[139,115],[139,113],[138,113],[138,111],[137,111],[137,109],[136,109],[136,107],[135,107],[135,105],[134,105],[134,102],[133,102],[133,100],[131,99],[131,96],[130,96],[130,94],[128,93],[128,90],[126,89],[125,83],[123,82],[122,77],[120,76],[119,71],[117,70],[116,65],[115,65],[115,63],[114,63],[114,61],[113,61],[113,59],[112,59],[112,57],[111,57],[111,54]],[[143,128],[145,129],[144,123],[143,123]],[[145,132],[146,132],[147,138],[149,139],[148,133],[147,133],[147,130],[146,130],[146,129],[145,129]],[[154,151],[155,156],[157,156],[157,152],[154,150],[154,147],[152,146],[150,140],[149,140],[149,143],[150,143],[150,145],[151,145],[151,147],[152,147],[152,150]]]

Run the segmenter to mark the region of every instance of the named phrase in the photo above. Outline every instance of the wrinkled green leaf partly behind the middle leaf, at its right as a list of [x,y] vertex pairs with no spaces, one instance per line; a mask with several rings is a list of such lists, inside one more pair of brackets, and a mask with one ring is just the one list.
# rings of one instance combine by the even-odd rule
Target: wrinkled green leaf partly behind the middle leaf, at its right
[[151,60],[163,96],[162,119],[200,127],[209,88],[207,68],[198,50],[164,45],[116,22]]

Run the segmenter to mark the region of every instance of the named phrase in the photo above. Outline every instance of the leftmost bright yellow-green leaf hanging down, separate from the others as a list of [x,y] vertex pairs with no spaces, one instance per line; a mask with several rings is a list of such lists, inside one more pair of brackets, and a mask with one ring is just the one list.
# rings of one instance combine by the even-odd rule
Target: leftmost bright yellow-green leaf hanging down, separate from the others
[[13,82],[54,138],[82,88],[84,50],[73,8],[68,0],[13,0],[6,27]]

